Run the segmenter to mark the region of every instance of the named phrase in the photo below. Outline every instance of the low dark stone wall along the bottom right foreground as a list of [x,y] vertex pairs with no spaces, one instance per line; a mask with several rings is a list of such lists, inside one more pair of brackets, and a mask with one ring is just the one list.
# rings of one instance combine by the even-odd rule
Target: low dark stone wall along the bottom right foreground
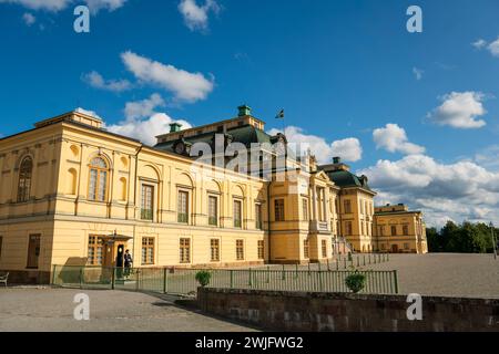
[[409,321],[406,295],[198,289],[206,313],[274,331],[499,331],[499,299],[422,296]]

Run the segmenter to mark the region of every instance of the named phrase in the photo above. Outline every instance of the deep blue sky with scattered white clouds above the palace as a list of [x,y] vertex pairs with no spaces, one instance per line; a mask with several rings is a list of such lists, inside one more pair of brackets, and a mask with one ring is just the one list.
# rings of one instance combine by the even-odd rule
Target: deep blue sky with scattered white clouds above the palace
[[[84,2],[91,32],[75,33]],[[422,33],[406,30],[411,4]],[[0,134],[81,106],[142,138],[242,103],[271,131],[284,107],[288,137],[322,160],[345,156],[379,204],[407,202],[434,225],[499,223],[498,11],[495,0],[0,0]]]

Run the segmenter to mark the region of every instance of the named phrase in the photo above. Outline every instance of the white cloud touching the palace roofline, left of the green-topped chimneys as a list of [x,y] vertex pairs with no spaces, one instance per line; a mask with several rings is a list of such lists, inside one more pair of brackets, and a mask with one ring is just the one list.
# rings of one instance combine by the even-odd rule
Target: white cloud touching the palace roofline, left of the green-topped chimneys
[[180,123],[182,128],[190,128],[191,124],[183,119],[173,119],[165,113],[155,113],[145,119],[128,119],[114,125],[106,126],[109,132],[136,138],[142,143],[153,146],[156,136],[170,132],[170,123]]

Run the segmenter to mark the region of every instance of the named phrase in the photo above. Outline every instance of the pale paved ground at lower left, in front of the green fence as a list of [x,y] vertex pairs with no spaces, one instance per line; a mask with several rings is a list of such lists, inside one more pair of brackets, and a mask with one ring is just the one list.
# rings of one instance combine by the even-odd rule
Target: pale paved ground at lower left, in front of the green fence
[[[90,296],[90,321],[73,317],[74,294]],[[234,332],[252,329],[152,295],[106,290],[0,288],[0,331]]]

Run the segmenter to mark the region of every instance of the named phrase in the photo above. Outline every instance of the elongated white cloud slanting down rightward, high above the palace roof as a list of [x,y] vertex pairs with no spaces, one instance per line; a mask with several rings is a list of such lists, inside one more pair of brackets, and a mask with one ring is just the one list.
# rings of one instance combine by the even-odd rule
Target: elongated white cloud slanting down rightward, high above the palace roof
[[202,73],[190,73],[173,65],[152,61],[133,52],[121,54],[126,69],[144,83],[154,84],[172,92],[180,101],[204,100],[213,91],[214,82]]

